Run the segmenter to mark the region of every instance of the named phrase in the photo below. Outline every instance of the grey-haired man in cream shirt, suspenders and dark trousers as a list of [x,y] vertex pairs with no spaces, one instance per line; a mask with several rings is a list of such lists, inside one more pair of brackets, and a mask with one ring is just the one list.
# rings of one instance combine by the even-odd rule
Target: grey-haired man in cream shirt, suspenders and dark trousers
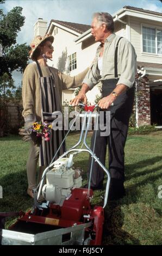
[[[101,136],[97,131],[95,154],[105,165],[107,144],[109,149],[110,190],[109,199],[119,199],[124,191],[124,145],[126,143],[128,123],[133,108],[134,81],[136,75],[136,54],[130,42],[115,35],[113,17],[108,13],[95,13],[91,25],[91,33],[96,42],[101,42],[96,58],[83,80],[78,96],[71,101],[72,106],[78,102],[86,103],[86,92],[99,81],[102,82],[102,99],[98,106],[102,111],[110,111],[110,135]],[[112,106],[112,103],[114,104]],[[95,132],[91,140],[94,148]],[[88,179],[91,160],[89,161]],[[91,176],[91,188],[102,189],[104,173],[94,163]]]

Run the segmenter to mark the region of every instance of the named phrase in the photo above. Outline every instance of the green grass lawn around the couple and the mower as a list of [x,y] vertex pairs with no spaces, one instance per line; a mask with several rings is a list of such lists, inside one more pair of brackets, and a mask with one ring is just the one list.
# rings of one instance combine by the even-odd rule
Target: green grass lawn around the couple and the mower
[[[68,136],[67,147],[78,138],[76,133]],[[158,187],[162,185],[161,138],[162,131],[128,136],[125,148],[127,196],[109,202],[105,208],[104,245],[162,245],[162,199],[158,198]],[[32,199],[26,194],[28,149],[29,144],[18,136],[0,139],[1,212],[26,211],[32,206]],[[88,155],[77,155],[74,162],[84,170],[84,185]],[[92,203],[102,205],[103,196],[104,191],[96,191]]]

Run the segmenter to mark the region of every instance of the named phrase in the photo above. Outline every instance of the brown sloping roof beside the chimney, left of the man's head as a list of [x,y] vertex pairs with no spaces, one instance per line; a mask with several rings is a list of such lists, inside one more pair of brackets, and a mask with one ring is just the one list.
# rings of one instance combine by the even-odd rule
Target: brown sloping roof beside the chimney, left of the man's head
[[87,31],[88,29],[91,28],[90,25],[84,25],[84,24],[67,22],[67,21],[51,20],[51,22],[49,23],[49,26],[47,28],[47,31],[48,31],[49,27],[51,26],[52,22],[57,23],[66,28],[72,29],[73,31],[80,33],[80,34],[83,34],[85,31]]

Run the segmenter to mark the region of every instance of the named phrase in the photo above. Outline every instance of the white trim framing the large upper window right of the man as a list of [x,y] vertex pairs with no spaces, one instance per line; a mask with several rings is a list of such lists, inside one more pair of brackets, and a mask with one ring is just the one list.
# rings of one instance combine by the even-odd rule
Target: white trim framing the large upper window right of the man
[[141,55],[143,56],[153,56],[153,57],[160,57],[162,56],[162,53],[152,53],[152,52],[144,52],[143,51],[143,33],[142,33],[142,27],[147,27],[147,28],[154,28],[155,29],[155,33],[156,33],[156,36],[155,36],[155,44],[156,44],[156,51],[158,50],[157,49],[157,29],[161,30],[162,31],[162,27],[160,26],[153,26],[153,25],[148,25],[146,23],[141,23]]

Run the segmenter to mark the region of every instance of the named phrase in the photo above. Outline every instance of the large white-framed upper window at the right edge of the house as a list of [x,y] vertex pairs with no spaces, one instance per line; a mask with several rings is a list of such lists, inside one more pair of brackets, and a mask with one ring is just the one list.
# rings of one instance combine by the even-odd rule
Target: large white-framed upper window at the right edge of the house
[[162,54],[162,31],[142,27],[143,52]]

